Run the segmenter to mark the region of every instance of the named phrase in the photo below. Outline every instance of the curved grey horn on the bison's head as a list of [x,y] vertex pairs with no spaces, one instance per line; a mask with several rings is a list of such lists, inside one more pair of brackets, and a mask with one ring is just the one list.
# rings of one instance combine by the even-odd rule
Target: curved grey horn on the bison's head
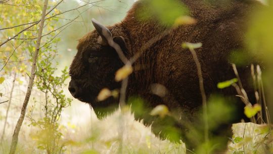
[[106,28],[105,26],[103,26],[102,24],[100,24],[94,18],[92,19],[92,23],[93,23],[94,27],[96,28],[96,30],[98,31],[98,33],[102,37],[101,44],[102,45],[108,45],[108,41],[107,40],[109,38],[112,38],[112,33],[110,32],[110,30],[108,28]]

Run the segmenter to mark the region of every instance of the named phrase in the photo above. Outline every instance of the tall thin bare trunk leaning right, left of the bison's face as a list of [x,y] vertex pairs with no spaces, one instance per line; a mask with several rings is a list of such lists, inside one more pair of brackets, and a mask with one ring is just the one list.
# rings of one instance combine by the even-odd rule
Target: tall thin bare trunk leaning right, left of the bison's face
[[15,151],[16,151],[16,146],[17,146],[17,142],[18,142],[18,135],[19,135],[22,123],[23,123],[24,118],[25,118],[26,107],[27,107],[27,104],[28,104],[28,101],[29,101],[29,98],[30,98],[30,95],[31,95],[31,91],[32,91],[33,83],[34,83],[34,78],[35,78],[35,72],[36,72],[36,61],[37,61],[38,52],[39,52],[39,48],[40,48],[41,35],[42,35],[42,30],[43,30],[45,14],[47,13],[48,3],[49,3],[49,0],[44,0],[43,10],[42,10],[42,15],[41,15],[41,20],[40,20],[41,22],[40,22],[39,31],[38,31],[38,38],[37,38],[37,43],[36,43],[36,47],[35,47],[35,52],[34,52],[34,55],[33,55],[33,62],[32,62],[32,67],[31,67],[30,80],[29,80],[29,83],[28,83],[27,93],[26,93],[25,100],[24,100],[24,103],[23,103],[23,106],[22,106],[20,118],[18,119],[18,122],[16,124],[15,129],[14,129],[10,154],[14,154]]

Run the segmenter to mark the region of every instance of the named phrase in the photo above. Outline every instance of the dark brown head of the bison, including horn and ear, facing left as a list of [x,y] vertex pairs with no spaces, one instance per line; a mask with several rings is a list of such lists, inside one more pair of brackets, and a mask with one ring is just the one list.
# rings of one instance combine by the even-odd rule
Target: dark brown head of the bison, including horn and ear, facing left
[[96,20],[92,22],[96,30],[79,40],[78,52],[70,66],[71,81],[68,89],[74,98],[90,104],[97,115],[104,115],[113,111],[118,103],[112,97],[98,101],[97,96],[103,88],[120,88],[120,83],[115,82],[114,77],[123,65],[115,49],[108,45],[107,38],[118,44],[123,52],[126,52],[126,46],[117,26],[109,28],[112,28],[112,34]]

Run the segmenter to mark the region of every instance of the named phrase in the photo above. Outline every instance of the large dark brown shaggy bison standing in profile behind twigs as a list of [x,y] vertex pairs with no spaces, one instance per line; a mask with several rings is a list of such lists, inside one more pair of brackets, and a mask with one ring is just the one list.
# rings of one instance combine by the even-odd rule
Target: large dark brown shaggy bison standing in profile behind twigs
[[[181,48],[183,42],[202,42],[203,47],[196,50],[204,79],[206,95],[221,93],[225,96],[234,96],[235,90],[227,88],[217,89],[219,82],[236,78],[229,56],[233,50],[243,48],[244,33],[247,15],[253,11],[254,4],[244,1],[230,1],[228,6],[213,6],[201,1],[183,0],[188,6],[190,15],[198,22],[195,25],[184,25],[173,29],[154,42],[133,63],[134,72],[129,76],[126,96],[140,96],[145,100],[147,110],[135,112],[135,119],[143,119],[145,125],[152,124],[152,130],[162,138],[170,140],[181,138],[188,148],[196,147],[196,143],[187,135],[188,129],[183,122],[194,123],[198,110],[202,107],[199,90],[199,81],[196,65],[189,50]],[[144,1],[136,2],[120,23],[107,28],[94,22],[96,30],[87,33],[79,40],[78,52],[70,66],[71,82],[69,91],[73,97],[89,103],[98,117],[104,117],[118,107],[118,101],[113,97],[98,102],[97,96],[101,89],[119,89],[120,83],[114,81],[115,72],[123,66],[116,51],[110,47],[106,38],[113,37],[123,54],[129,59],[138,53],[142,46],[151,38],[168,29],[154,20],[138,20],[138,10],[145,8]],[[149,9],[149,8],[145,8]],[[246,53],[247,54],[247,53]],[[249,62],[250,63],[250,62]],[[250,75],[247,66],[238,68],[242,79]],[[164,97],[150,93],[153,84],[164,85],[168,93]],[[247,80],[243,85],[247,92]],[[235,96],[234,96],[235,97]],[[236,100],[236,99],[234,99]],[[132,101],[127,101],[131,103]],[[233,101],[236,102],[236,101]],[[170,111],[180,117],[181,122],[166,116],[165,118],[152,117],[149,109],[165,104]],[[228,141],[231,135],[232,123],[245,119],[243,116],[243,103],[234,103],[237,110],[229,124],[223,124],[212,131],[212,134],[222,135],[223,142]],[[132,110],[134,104],[132,104]],[[197,126],[193,124],[192,126]],[[178,130],[180,137],[170,137],[168,128]],[[160,133],[161,132],[161,133]]]

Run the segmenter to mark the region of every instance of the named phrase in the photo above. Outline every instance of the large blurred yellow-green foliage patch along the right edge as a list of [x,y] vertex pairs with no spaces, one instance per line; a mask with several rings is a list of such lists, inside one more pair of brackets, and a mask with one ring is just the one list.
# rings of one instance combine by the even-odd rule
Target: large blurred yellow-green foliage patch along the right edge
[[[273,101],[273,1],[266,1],[267,5],[260,6],[251,14],[247,29],[245,44],[248,51],[258,59],[263,73],[260,83],[266,94],[266,101]],[[261,78],[261,77],[260,77]],[[273,104],[267,103],[270,119],[273,119]]]

